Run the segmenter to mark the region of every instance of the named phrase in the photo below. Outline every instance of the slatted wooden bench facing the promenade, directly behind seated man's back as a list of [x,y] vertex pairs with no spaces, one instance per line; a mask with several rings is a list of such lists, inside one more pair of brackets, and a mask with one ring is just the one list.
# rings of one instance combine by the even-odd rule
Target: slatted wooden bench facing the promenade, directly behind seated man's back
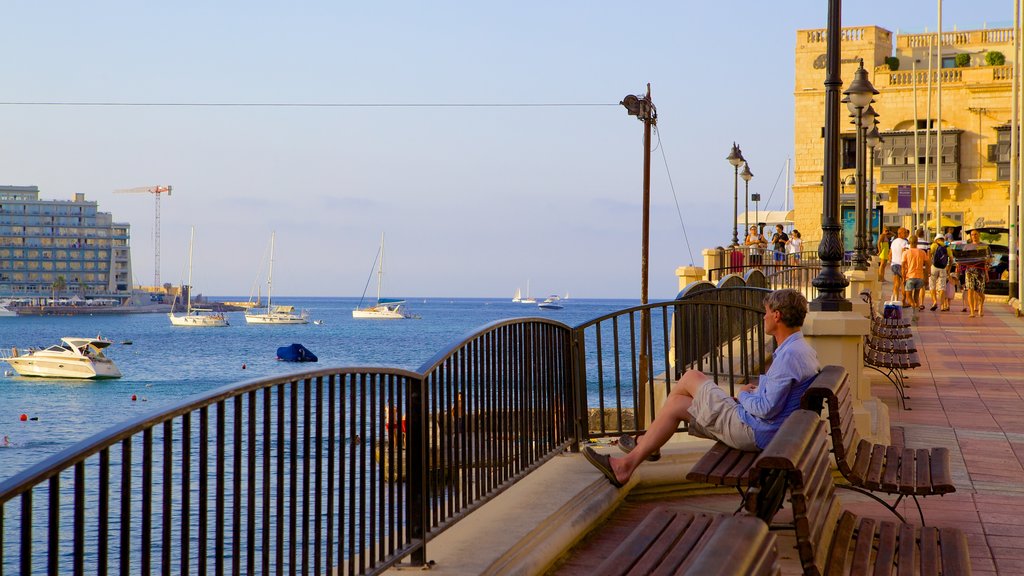
[[[843,371],[842,376],[830,374],[840,370]],[[801,408],[817,413],[828,408],[831,451],[840,474],[850,483],[844,487],[870,496],[903,522],[906,521],[896,510],[896,506],[903,498],[910,497],[918,506],[918,513],[924,525],[925,515],[918,497],[956,491],[949,467],[949,450],[915,450],[864,440],[854,420],[853,390],[848,383],[846,371],[837,366],[826,366],[821,372],[804,393]],[[874,492],[894,494],[897,498],[890,504]]]

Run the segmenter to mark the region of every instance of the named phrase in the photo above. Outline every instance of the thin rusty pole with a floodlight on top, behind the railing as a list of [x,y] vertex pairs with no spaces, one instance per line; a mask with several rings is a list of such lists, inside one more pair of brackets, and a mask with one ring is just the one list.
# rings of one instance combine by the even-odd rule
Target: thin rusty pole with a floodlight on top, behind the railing
[[[643,224],[641,234],[641,255],[640,255],[640,303],[647,303],[647,252],[648,237],[650,231],[650,129],[657,123],[657,109],[650,99],[650,83],[647,83],[647,95],[629,94],[621,101],[626,107],[626,112],[630,116],[636,116],[643,122]],[[647,340],[650,339],[650,311],[643,308],[640,312],[640,366],[638,389],[643,389],[647,383],[647,371],[650,362]],[[645,405],[644,394],[640,394],[637,399],[637,416],[642,417]]]

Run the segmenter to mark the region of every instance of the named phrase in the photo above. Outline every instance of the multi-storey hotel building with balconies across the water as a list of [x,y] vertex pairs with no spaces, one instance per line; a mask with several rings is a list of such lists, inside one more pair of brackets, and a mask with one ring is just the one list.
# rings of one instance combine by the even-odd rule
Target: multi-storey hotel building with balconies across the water
[[131,298],[127,223],[81,193],[73,200],[41,200],[39,188],[0,186],[0,298],[42,303],[56,296]]

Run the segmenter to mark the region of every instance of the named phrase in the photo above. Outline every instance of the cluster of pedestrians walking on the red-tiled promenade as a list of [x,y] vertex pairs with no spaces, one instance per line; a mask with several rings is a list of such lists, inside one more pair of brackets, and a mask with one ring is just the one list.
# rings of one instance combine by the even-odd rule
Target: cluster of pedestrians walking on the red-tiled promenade
[[[926,289],[931,291],[931,311],[948,312],[956,296],[958,272],[950,253],[950,237],[936,236],[929,243],[924,229],[913,239],[910,231],[900,227],[893,238],[889,230],[879,237],[879,280],[885,280],[886,268],[893,273],[892,299],[904,306],[925,310]],[[971,231],[971,243],[981,244],[978,231]],[[964,312],[970,318],[984,316],[985,269],[987,262],[963,264],[965,272]]]

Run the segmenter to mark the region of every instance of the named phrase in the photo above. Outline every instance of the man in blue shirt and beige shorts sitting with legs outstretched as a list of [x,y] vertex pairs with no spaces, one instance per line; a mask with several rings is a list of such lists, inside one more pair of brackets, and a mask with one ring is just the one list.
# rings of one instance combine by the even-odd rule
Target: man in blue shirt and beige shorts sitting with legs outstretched
[[689,423],[691,436],[718,440],[737,450],[768,446],[786,416],[800,408],[800,398],[820,365],[800,332],[807,316],[803,294],[791,288],[775,290],[765,296],[764,306],[765,333],[775,338],[776,347],[760,385],[745,384],[733,399],[703,372],[687,370],[672,386],[647,433],[618,440],[626,456],[612,458],[590,447],[584,448],[584,456],[612,485],[622,487],[642,461],[656,455],[682,420]]

